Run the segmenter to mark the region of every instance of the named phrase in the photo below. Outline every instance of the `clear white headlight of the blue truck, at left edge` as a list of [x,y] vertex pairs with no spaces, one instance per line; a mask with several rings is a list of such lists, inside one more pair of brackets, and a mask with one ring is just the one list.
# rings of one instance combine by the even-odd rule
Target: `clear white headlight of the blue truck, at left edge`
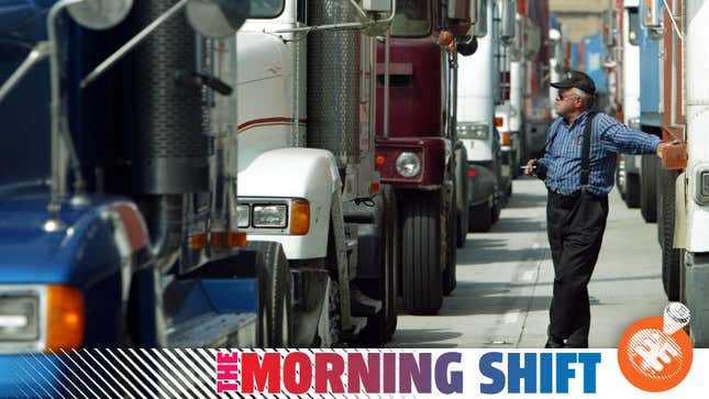
[[0,296],[0,341],[36,341],[40,337],[40,299]]

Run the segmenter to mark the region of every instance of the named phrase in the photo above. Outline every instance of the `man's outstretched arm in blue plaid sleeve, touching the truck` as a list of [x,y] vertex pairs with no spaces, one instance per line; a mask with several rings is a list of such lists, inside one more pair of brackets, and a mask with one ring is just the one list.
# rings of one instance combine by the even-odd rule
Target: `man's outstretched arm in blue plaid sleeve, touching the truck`
[[623,154],[652,154],[661,155],[665,146],[662,138],[647,134],[618,122],[606,114],[598,114],[598,129],[601,141],[607,151]]

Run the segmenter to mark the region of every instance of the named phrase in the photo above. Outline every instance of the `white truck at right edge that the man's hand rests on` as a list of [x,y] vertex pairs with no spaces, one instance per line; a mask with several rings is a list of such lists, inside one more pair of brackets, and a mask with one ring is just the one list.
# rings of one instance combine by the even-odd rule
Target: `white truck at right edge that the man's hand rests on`
[[649,1],[641,9],[644,29],[662,38],[662,136],[676,144],[665,149],[657,174],[663,282],[671,300],[682,300],[689,308],[695,346],[707,347],[709,143],[705,131],[709,85],[705,47],[709,4],[696,0]]

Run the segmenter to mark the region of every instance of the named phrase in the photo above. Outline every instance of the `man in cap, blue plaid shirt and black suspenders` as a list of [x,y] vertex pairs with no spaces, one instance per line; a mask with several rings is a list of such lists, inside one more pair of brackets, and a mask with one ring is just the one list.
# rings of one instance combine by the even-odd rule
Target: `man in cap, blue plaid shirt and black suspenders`
[[[606,230],[616,155],[656,152],[661,156],[669,144],[603,113],[595,114],[596,85],[584,73],[566,73],[552,87],[558,89],[555,108],[560,118],[550,128],[544,157],[530,159],[524,169],[527,175],[544,179],[549,189],[546,231],[554,262],[554,295],[545,347],[588,347],[587,286]],[[588,134],[590,140],[586,141]]]

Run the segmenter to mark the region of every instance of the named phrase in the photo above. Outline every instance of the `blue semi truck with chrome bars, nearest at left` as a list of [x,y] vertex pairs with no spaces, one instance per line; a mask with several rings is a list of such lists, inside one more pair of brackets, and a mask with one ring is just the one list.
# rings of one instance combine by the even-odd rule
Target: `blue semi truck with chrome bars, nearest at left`
[[[236,79],[206,49],[235,60],[243,4],[0,2],[0,397],[59,384],[62,351],[288,344],[285,255],[237,231],[210,118]],[[206,10],[228,38],[190,29]]]

